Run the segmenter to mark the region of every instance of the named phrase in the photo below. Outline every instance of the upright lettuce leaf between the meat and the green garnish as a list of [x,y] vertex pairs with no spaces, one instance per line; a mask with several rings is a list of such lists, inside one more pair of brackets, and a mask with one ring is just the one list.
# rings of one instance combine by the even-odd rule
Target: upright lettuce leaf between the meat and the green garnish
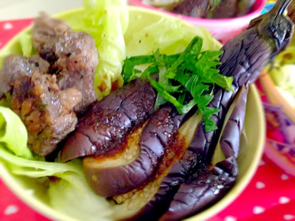
[[84,0],[85,11],[79,16],[67,18],[74,29],[85,31],[94,38],[99,64],[96,67],[94,86],[100,100],[112,90],[112,84],[123,86],[121,76],[126,58],[124,34],[129,25],[126,0]]

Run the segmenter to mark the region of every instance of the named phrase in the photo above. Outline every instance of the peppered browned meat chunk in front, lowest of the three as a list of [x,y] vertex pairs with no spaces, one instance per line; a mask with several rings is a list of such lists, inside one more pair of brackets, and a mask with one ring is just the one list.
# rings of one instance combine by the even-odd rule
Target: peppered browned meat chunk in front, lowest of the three
[[11,109],[17,113],[28,130],[28,145],[35,153],[46,156],[56,149],[77,125],[71,111],[81,101],[75,88],[59,90],[56,76],[35,70],[15,80]]

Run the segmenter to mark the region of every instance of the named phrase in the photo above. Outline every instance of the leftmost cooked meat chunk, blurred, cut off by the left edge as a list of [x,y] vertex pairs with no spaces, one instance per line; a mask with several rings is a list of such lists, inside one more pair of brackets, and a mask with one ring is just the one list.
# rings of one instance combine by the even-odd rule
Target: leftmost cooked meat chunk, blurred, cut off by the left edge
[[40,72],[49,71],[49,63],[43,60],[40,56],[33,55],[30,58],[19,55],[7,56],[3,63],[3,68],[0,70],[0,97],[11,91],[16,79],[20,76],[31,76],[34,70]]

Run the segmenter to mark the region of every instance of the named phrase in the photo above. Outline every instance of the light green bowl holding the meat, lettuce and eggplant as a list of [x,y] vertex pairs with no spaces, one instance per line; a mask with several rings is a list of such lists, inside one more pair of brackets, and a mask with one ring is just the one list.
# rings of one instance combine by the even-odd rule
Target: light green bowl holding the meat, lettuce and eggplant
[[[67,11],[54,17],[66,19],[70,15],[80,13],[81,10],[82,9]],[[129,16],[130,25],[128,27],[127,33],[124,36],[126,42],[128,41],[128,39],[131,39],[132,34],[135,31],[159,21],[162,17],[176,19],[175,17],[164,13],[132,6],[129,7]],[[192,27],[192,29],[197,29],[198,35],[200,37],[204,37],[204,44],[211,44],[217,50],[221,48],[222,45],[217,40],[213,38],[208,39],[208,37],[206,38],[206,36],[208,36],[207,30],[203,28],[196,28],[184,21],[183,25],[187,27]],[[25,29],[22,33],[29,33],[30,31],[31,27]],[[18,41],[20,34],[14,37],[2,49],[2,56],[22,53]],[[240,173],[236,184],[230,190],[230,192],[218,203],[186,220],[206,220],[214,216],[218,212],[222,211],[242,193],[242,191],[250,182],[251,178],[254,176],[254,173],[262,156],[265,139],[265,118],[263,115],[262,103],[260,101],[258,91],[254,85],[250,87],[248,95],[245,127],[248,137],[248,146],[246,148],[246,151],[238,158]],[[5,163],[1,160],[0,177],[19,198],[21,198],[26,204],[28,204],[30,207],[33,207],[36,211],[40,212],[46,217],[60,221],[78,221],[77,219],[75,219],[75,217],[72,217],[69,214],[63,214],[51,208],[49,205],[49,199],[46,194],[46,189],[41,184],[38,184],[38,182],[35,182],[35,180],[32,178],[15,176],[11,174]],[[32,189],[34,190],[33,194],[32,191],[30,191]]]

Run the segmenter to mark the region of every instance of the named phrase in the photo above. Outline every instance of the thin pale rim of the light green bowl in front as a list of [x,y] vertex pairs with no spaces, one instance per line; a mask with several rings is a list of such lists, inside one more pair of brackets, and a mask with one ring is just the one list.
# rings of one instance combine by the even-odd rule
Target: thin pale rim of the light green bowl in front
[[[72,9],[72,10],[67,10],[67,11],[52,15],[52,17],[56,17],[56,18],[63,17],[67,14],[79,13],[82,10],[83,10],[83,8],[76,8],[76,9]],[[170,16],[171,17],[171,15],[169,15],[167,13],[163,13],[161,11],[155,11],[155,10],[151,10],[151,9],[147,9],[147,8],[143,8],[143,7],[139,7],[139,6],[128,6],[128,10],[136,10],[136,11],[143,11],[143,12],[148,11],[149,13],[154,14],[154,15],[168,16],[168,17]],[[175,16],[172,16],[172,17],[175,18]],[[188,26],[191,26],[191,27],[193,26],[192,24],[190,24],[187,21],[182,20],[182,22]],[[16,41],[18,41],[18,38],[22,33],[28,32],[31,29],[32,29],[32,25],[29,25],[27,28],[23,29],[21,32],[19,32],[17,35],[15,35],[6,45],[4,45],[2,50],[4,50],[5,48],[9,48],[10,45],[12,45]],[[214,41],[216,41],[216,43],[220,44],[213,37],[212,37],[212,39]],[[184,219],[184,221],[196,221],[196,219],[206,220],[206,219],[209,219],[210,217],[213,217],[217,213],[221,212],[225,207],[229,206],[234,200],[236,200],[238,198],[238,196],[248,186],[252,177],[256,173],[256,171],[258,169],[259,162],[260,162],[262,154],[263,154],[263,149],[264,149],[266,130],[265,130],[265,126],[263,126],[263,125],[265,125],[265,118],[263,117],[264,116],[263,107],[262,107],[262,102],[261,102],[261,99],[260,99],[260,96],[258,93],[258,89],[254,84],[252,84],[250,86],[249,93],[251,93],[253,95],[253,99],[255,100],[256,103],[258,103],[258,109],[256,110],[256,113],[259,116],[259,122],[257,122],[257,124],[261,127],[261,130],[259,130],[259,131],[262,136],[258,137],[258,140],[257,140],[258,149],[256,151],[256,154],[253,157],[253,160],[251,161],[251,164],[250,164],[248,170],[246,171],[245,175],[242,176],[242,178],[239,180],[239,184],[235,185],[226,194],[226,196],[224,196],[221,200],[219,200],[217,203],[215,203],[213,206],[209,207],[208,209],[206,209],[196,215],[193,215],[187,219]],[[0,162],[0,172],[1,172],[0,178],[6,184],[6,186],[12,192],[14,192],[19,199],[21,199],[25,204],[27,204],[29,207],[33,208],[39,214],[44,215],[47,218],[52,219],[52,220],[81,221],[81,220],[77,220],[75,218],[72,218],[71,216],[66,215],[64,213],[61,213],[60,211],[54,210],[52,207],[44,204],[42,201],[38,200],[33,195],[27,194],[24,191],[24,189],[20,185],[18,185],[17,182],[12,178],[12,175],[9,173],[9,170],[4,165],[2,165],[1,162]]]

